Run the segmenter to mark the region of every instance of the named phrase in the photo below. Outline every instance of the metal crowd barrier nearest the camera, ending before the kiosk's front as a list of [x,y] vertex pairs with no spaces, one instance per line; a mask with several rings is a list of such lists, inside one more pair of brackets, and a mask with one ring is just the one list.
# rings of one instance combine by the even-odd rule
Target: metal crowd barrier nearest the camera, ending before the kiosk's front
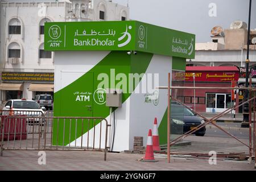
[[5,150],[104,151],[106,160],[109,126],[100,117],[5,116],[1,156]]

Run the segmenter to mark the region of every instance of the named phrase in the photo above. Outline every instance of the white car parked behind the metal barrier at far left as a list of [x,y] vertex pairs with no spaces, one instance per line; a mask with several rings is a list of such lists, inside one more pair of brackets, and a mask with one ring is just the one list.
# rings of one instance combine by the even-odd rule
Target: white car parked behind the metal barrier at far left
[[27,119],[27,122],[38,122],[39,119],[33,117],[41,117],[44,115],[45,107],[40,107],[38,103],[32,100],[13,99],[6,102],[2,110],[2,115],[26,115],[31,117]]

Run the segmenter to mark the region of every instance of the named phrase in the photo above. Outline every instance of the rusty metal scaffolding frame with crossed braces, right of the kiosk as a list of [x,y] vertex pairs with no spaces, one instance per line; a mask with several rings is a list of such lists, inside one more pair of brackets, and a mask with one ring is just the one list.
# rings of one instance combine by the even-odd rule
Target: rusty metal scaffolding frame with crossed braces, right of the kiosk
[[[243,100],[242,103],[238,103],[237,105],[233,105],[233,106],[230,106],[229,109],[226,109],[225,111],[223,111],[222,113],[220,114],[217,114],[216,116],[214,116],[213,118],[205,118],[203,115],[201,115],[200,113],[198,113],[197,111],[195,111],[195,109],[191,109],[191,107],[183,104],[182,102],[180,102],[179,100],[177,100],[176,98],[172,97],[171,96],[171,89],[234,89],[236,90],[237,88],[236,87],[227,87],[227,88],[216,88],[216,87],[191,87],[191,86],[170,86],[170,83],[171,83],[171,80],[170,80],[170,73],[168,73],[168,86],[159,86],[157,87],[158,89],[167,89],[168,90],[168,111],[167,111],[167,160],[168,160],[168,163],[170,163],[170,155],[171,154],[175,154],[175,152],[172,152],[170,151],[170,147],[179,142],[181,139],[184,139],[185,137],[188,137],[189,135],[195,133],[197,130],[201,129],[202,127],[206,126],[206,125],[209,125],[209,123],[211,123],[212,125],[214,125],[215,127],[217,127],[218,129],[220,129],[221,131],[223,131],[225,134],[229,135],[230,137],[236,139],[238,142],[242,143],[244,146],[248,147],[249,148],[249,160],[251,161],[252,158],[253,158],[253,151],[254,151],[254,159],[255,159],[255,165],[254,165],[254,168],[256,168],[256,138],[255,138],[255,135],[256,135],[256,126],[255,126],[255,100],[256,100],[256,96],[255,96],[255,92],[256,92],[256,89],[253,88],[251,86],[251,77],[250,77],[250,87],[246,87],[246,88],[240,88],[242,90],[247,90],[247,91],[250,91],[250,94],[249,94],[249,98],[247,98],[247,100]],[[201,118],[203,118],[205,120],[204,123],[201,123],[199,126],[196,126],[195,128],[193,128],[192,130],[188,131],[187,133],[184,133],[182,135],[180,135],[179,137],[175,138],[174,140],[172,140],[170,142],[170,135],[171,135],[171,126],[170,126],[170,109],[171,109],[171,106],[170,106],[170,100],[173,99],[174,101],[177,101],[179,104],[185,106],[187,109],[189,110],[192,110],[195,114],[199,115]],[[237,137],[235,137],[234,135],[230,134],[228,131],[222,129],[222,127],[218,126],[216,123],[214,123],[214,121],[220,117],[222,117],[223,115],[225,114],[228,114],[230,111],[232,110],[235,110],[237,109],[238,107],[242,106],[242,105],[245,105],[245,104],[248,104],[250,106],[250,109],[251,109],[251,102],[253,101],[253,123],[254,123],[254,127],[253,127],[253,145],[252,145],[252,136],[251,136],[251,114],[250,114],[250,119],[249,119],[249,122],[250,122],[250,127],[249,127],[249,145],[246,144],[245,142],[242,142],[242,140],[238,139]],[[249,110],[251,111],[251,110]],[[186,155],[189,155],[189,154],[192,154],[192,152],[187,152]],[[231,154],[231,153],[230,153]],[[240,155],[241,156],[241,153],[237,153],[237,155]],[[199,155],[196,155],[196,156],[199,156]]]

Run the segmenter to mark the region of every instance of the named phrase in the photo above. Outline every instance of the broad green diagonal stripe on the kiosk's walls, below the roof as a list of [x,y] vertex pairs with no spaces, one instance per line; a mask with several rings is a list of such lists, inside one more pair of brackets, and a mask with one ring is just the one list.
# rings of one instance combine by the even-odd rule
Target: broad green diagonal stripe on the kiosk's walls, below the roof
[[[76,101],[76,92],[92,92],[97,89],[97,85],[102,80],[97,80],[99,74],[106,73],[111,79],[110,70],[114,69],[115,75],[118,73],[125,74],[126,78],[129,78],[129,73],[145,73],[150,61],[152,59],[152,53],[138,52],[137,55],[127,55],[126,51],[112,51],[107,55],[104,59],[100,61],[97,65],[95,65],[90,71],[82,75],[77,80],[74,80],[72,84],[69,84],[65,88],[59,90],[54,94],[55,97],[55,108],[54,108],[54,116],[58,117],[102,117],[106,118],[109,115],[109,107],[103,105],[98,105],[96,102],[92,101],[92,96],[90,97],[90,101],[92,102],[92,115],[86,115],[85,112],[85,103],[86,102],[77,102]],[[133,68],[133,69],[131,69]],[[109,80],[110,81],[110,80]],[[141,81],[141,80],[140,80]],[[117,89],[123,89],[122,85],[118,86],[119,80],[115,81],[115,85],[117,85]],[[129,88],[129,82],[127,81],[127,88]],[[135,89],[134,85],[133,90]],[[104,89],[106,89],[105,87]],[[109,88],[113,88],[109,84]],[[125,102],[127,98],[129,98],[131,93],[123,93],[122,102]],[[77,136],[75,134],[76,123],[71,123],[71,142],[76,138],[81,137],[82,134],[85,134],[88,130],[92,129],[93,121],[90,121],[90,125],[88,126],[88,122],[82,124],[81,120],[77,120]],[[96,122],[96,125],[100,121]],[[69,143],[69,121],[65,121],[65,137],[64,137],[64,145]],[[83,126],[82,126],[83,125]],[[59,120],[59,126],[57,126],[57,120],[53,122],[53,145],[57,144],[57,127],[59,127],[58,132],[58,145],[63,144],[63,129],[64,129],[64,121]],[[83,129],[83,130],[82,130]],[[82,130],[82,131],[81,131]]]

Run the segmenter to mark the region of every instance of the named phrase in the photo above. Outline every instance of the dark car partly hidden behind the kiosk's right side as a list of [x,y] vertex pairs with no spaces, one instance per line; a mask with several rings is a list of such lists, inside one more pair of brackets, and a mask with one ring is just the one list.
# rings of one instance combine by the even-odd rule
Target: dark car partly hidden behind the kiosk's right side
[[[189,130],[192,130],[196,126],[204,123],[204,119],[197,117],[191,110],[187,109],[182,105],[172,104],[171,105],[171,119],[172,119],[172,130],[179,131],[182,129],[183,133],[187,133]],[[205,126],[195,132],[196,136],[203,137],[205,135],[206,128]]]

